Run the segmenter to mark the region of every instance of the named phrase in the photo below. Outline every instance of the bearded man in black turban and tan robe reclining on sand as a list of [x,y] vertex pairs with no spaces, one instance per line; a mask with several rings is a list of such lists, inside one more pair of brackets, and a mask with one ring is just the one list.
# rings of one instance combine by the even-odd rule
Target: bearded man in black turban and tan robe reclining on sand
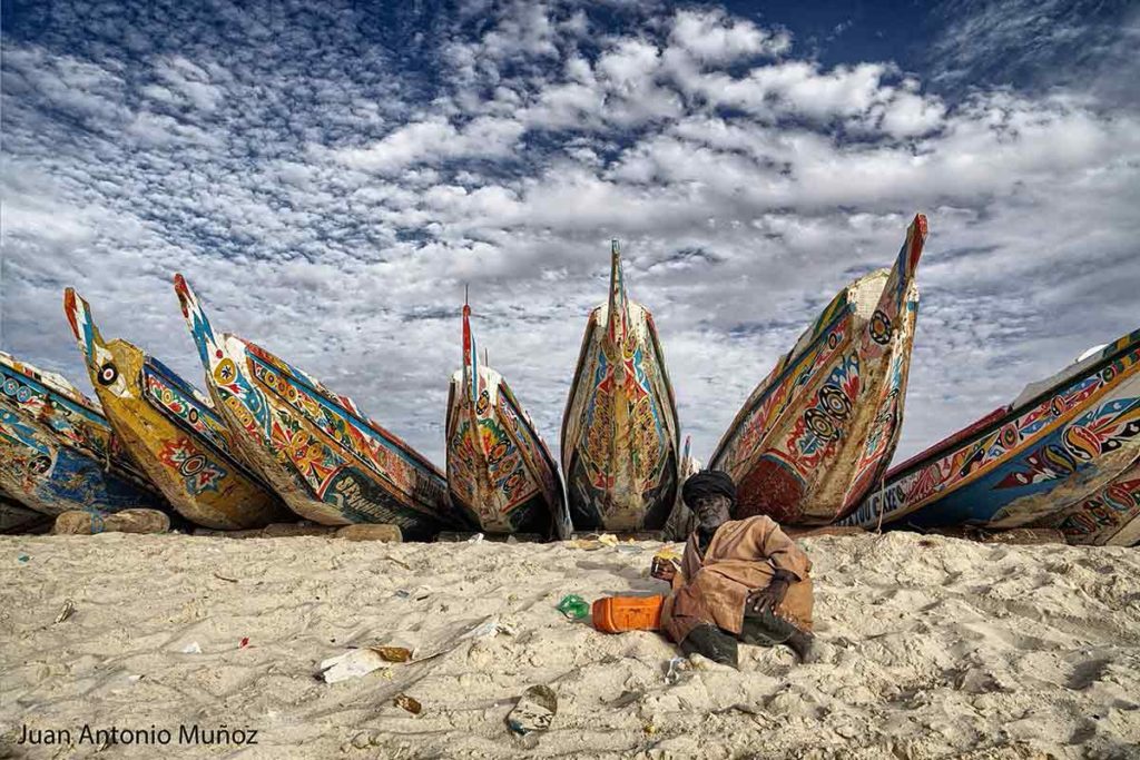
[[736,488],[726,473],[685,481],[682,498],[697,518],[661,627],[685,654],[736,667],[738,640],[787,644],[800,660],[812,647],[812,561],[767,516],[731,520]]

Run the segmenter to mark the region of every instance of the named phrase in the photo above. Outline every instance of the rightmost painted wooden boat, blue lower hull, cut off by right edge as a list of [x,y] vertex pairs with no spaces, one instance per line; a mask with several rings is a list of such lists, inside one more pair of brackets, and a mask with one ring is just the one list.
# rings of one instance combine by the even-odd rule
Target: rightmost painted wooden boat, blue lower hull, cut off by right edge
[[891,468],[845,523],[1056,526],[1075,542],[1134,540],[1138,456],[1140,330]]

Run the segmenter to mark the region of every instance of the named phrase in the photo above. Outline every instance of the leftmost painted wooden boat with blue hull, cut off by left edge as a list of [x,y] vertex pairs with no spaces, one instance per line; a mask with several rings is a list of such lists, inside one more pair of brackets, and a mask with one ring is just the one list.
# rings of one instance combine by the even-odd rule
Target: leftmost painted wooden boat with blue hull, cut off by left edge
[[99,404],[55,373],[0,352],[0,487],[46,515],[168,508]]

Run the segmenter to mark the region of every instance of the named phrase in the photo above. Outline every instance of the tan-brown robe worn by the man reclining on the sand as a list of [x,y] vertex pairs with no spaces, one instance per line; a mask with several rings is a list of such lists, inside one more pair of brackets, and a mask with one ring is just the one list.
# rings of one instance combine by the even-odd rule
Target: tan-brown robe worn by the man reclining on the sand
[[661,608],[662,628],[678,644],[702,623],[740,635],[748,593],[766,588],[777,569],[799,580],[788,587],[776,614],[801,630],[812,630],[812,561],[771,517],[726,522],[703,556],[697,532],[690,533],[681,570],[673,578],[673,594]]

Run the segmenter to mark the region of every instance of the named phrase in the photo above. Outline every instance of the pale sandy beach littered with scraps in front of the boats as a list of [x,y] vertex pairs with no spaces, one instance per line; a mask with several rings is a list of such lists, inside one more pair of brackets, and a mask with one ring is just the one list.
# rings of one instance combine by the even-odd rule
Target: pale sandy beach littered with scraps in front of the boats
[[[907,533],[800,544],[813,661],[742,647],[739,672],[698,656],[669,683],[662,637],[603,635],[554,608],[662,590],[656,542],[3,538],[0,754],[1138,757],[1140,553]],[[441,653],[423,662],[315,677],[348,647],[429,640]],[[518,738],[504,718],[536,684],[557,714]],[[80,741],[84,725],[171,741],[101,747]],[[205,743],[219,728],[230,742]],[[18,744],[25,730],[72,741]]]

